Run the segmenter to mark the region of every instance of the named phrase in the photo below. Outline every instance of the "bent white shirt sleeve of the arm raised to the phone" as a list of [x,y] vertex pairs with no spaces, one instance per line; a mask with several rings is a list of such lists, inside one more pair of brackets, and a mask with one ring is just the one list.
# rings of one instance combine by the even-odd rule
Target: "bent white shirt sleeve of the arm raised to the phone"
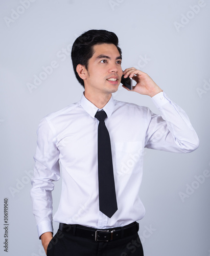
[[189,153],[199,146],[198,136],[186,113],[160,92],[152,97],[160,115],[147,112],[145,147],[175,153]]

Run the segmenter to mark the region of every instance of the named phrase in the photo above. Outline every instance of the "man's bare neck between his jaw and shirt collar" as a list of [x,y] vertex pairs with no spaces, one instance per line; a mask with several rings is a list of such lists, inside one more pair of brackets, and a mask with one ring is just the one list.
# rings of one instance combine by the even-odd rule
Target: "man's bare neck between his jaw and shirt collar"
[[106,103],[110,100],[111,98],[111,93],[110,94],[89,94],[87,91],[84,91],[84,96],[86,99],[88,99],[92,104],[97,106],[98,109],[102,109]]

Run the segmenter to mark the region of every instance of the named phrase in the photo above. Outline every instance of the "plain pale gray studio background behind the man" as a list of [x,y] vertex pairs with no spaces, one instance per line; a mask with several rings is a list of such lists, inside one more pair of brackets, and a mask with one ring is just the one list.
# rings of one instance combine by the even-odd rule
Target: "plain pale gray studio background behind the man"
[[[36,130],[43,116],[78,101],[83,92],[69,50],[62,49],[70,49],[84,31],[107,29],[119,36],[123,69],[134,66],[148,73],[188,113],[200,138],[200,147],[190,154],[146,150],[140,189],[146,216],[139,221],[145,255],[209,256],[210,178],[198,182],[195,177],[210,170],[210,1],[31,0],[22,7],[21,1],[1,0],[0,5],[1,255],[44,255],[29,196]],[[29,90],[34,75],[52,61],[57,68]],[[120,88],[114,98],[158,113],[148,96]],[[54,210],[60,185],[53,192]],[[180,193],[188,197],[181,199]],[[8,253],[4,198],[9,199]]]

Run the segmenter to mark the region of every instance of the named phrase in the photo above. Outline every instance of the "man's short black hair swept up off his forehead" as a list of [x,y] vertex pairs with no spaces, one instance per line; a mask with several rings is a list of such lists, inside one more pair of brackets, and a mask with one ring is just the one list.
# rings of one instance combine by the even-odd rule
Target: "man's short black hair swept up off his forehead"
[[84,81],[77,73],[77,65],[84,65],[88,69],[88,61],[94,55],[94,46],[101,44],[113,44],[118,49],[122,57],[122,51],[119,47],[118,37],[107,30],[92,29],[81,34],[72,46],[72,63],[77,80],[84,87]]

